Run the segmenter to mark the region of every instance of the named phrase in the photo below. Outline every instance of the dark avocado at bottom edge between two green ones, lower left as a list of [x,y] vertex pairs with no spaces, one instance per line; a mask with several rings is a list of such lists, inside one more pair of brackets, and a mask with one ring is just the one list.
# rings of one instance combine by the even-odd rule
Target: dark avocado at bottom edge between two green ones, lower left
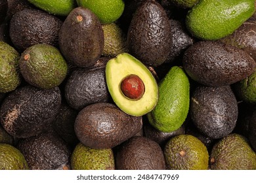
[[31,170],[70,169],[71,152],[66,143],[53,133],[40,133],[20,139],[17,144]]

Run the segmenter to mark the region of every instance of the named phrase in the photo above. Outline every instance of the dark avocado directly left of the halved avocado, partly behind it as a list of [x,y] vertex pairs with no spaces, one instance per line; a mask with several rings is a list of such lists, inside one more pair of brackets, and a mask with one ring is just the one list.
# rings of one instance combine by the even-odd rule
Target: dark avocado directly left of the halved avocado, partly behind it
[[76,110],[93,103],[108,102],[110,93],[106,85],[105,67],[74,69],[66,80],[65,98],[68,105]]

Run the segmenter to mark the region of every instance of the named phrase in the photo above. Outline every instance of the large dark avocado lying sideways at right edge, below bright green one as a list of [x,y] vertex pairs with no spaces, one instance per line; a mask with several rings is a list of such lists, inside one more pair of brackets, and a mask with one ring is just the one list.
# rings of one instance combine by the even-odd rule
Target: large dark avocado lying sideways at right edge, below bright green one
[[198,41],[183,55],[184,70],[205,86],[234,84],[255,71],[256,63],[244,50],[220,41]]

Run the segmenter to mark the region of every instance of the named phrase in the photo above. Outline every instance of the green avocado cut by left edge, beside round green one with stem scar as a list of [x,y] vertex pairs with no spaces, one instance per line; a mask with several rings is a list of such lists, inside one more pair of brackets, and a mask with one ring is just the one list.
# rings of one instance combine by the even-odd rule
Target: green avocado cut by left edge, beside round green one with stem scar
[[0,92],[7,93],[20,85],[20,54],[11,45],[0,41]]

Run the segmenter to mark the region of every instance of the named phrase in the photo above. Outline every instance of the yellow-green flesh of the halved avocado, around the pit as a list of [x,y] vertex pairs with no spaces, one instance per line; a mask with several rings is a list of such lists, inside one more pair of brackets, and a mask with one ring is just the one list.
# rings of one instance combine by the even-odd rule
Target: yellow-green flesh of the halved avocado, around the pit
[[[128,75],[137,75],[145,86],[144,95],[137,101],[128,99],[120,89],[120,83]],[[131,116],[142,116],[150,112],[158,101],[158,84],[143,63],[130,54],[119,54],[106,65],[106,82],[112,99],[123,112]]]

